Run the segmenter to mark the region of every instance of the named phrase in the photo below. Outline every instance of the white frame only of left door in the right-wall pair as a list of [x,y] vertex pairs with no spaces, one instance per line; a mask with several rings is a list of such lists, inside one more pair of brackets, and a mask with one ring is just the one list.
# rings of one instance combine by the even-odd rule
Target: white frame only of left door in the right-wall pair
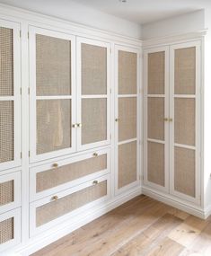
[[[165,85],[164,85],[164,94],[148,94],[148,54],[156,52],[165,52]],[[144,184],[155,189],[161,190],[163,192],[169,192],[169,122],[164,122],[164,141],[149,139],[147,137],[147,102],[148,97],[163,97],[164,100],[164,118],[169,119],[169,47],[157,47],[153,49],[144,50]],[[147,172],[147,143],[161,143],[164,145],[164,182],[165,186],[160,186],[155,184],[152,181],[148,181],[148,172]]]

